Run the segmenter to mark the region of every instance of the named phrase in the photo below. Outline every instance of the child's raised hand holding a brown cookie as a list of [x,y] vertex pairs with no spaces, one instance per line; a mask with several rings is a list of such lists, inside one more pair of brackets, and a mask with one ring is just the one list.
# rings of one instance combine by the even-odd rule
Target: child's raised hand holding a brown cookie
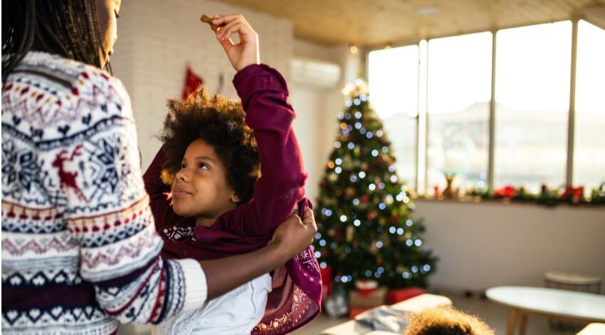
[[[261,63],[258,53],[258,33],[252,29],[248,21],[241,14],[220,15],[215,14],[213,24],[224,25],[215,31],[216,38],[227,53],[231,65],[236,71],[240,71],[251,64]],[[239,34],[239,43],[233,44],[231,35]]]

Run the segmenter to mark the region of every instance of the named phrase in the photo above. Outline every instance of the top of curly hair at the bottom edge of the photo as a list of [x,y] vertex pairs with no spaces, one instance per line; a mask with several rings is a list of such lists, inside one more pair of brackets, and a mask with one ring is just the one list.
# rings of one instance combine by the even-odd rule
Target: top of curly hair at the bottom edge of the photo
[[412,313],[404,335],[495,335],[495,332],[477,316],[452,307],[438,307]]

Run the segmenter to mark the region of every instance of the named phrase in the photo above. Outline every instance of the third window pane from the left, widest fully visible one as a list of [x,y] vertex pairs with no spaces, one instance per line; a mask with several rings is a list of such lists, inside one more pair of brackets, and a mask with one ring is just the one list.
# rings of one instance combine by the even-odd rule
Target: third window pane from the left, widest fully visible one
[[498,31],[495,187],[564,183],[571,45],[570,21]]

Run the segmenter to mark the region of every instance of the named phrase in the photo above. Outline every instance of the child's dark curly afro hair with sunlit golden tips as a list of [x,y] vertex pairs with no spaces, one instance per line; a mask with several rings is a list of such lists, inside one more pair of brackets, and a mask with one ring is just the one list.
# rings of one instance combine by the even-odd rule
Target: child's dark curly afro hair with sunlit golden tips
[[261,174],[261,162],[241,103],[216,94],[210,96],[201,86],[186,99],[169,99],[167,106],[169,113],[158,135],[167,156],[162,181],[172,184],[187,147],[201,139],[214,147],[239,203],[251,200],[254,183]]

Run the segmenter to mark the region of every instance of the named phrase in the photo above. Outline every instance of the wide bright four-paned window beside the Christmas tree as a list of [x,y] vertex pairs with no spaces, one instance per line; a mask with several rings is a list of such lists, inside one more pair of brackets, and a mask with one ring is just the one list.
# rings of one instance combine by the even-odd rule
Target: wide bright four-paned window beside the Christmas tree
[[572,22],[503,29],[495,40],[493,48],[492,33],[474,33],[369,53],[370,100],[399,174],[417,179],[419,185],[409,185],[429,195],[435,186],[443,189],[447,173],[463,190],[524,185],[539,192],[542,184],[572,182],[589,195],[605,182],[605,30],[578,22],[573,124]]

